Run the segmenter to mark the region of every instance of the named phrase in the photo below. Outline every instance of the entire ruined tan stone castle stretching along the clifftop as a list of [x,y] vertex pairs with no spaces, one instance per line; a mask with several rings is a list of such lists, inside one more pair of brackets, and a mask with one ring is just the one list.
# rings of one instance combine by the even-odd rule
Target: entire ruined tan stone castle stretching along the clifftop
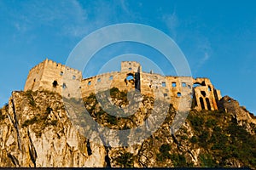
[[144,72],[135,61],[121,62],[121,70],[103,73],[95,77],[82,78],[81,71],[45,59],[29,72],[26,90],[44,88],[62,94],[64,97],[86,97],[110,88],[122,91],[137,90],[155,99],[165,99],[174,108],[181,110],[183,103],[193,100],[198,110],[218,110],[220,91],[208,78],[172,77]]

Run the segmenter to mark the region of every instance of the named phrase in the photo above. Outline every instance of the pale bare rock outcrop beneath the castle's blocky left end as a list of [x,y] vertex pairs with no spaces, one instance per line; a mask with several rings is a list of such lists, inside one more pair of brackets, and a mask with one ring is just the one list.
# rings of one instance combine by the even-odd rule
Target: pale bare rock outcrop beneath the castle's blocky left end
[[3,116],[1,167],[105,167],[106,150],[73,127],[61,96],[13,92]]

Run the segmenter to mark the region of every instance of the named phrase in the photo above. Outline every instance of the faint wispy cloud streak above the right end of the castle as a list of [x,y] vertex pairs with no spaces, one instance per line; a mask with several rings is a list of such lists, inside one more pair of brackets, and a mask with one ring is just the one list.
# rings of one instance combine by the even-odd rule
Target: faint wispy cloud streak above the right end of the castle
[[[202,35],[199,30],[189,30],[196,24],[192,18],[182,20],[178,17],[174,8],[171,14],[163,14],[162,21],[166,25],[170,37],[178,44],[186,44],[186,57],[190,62],[190,68],[193,74],[201,70],[201,67],[211,58],[212,47],[208,38]],[[185,31],[181,27],[187,27]],[[189,41],[189,42],[188,42]]]

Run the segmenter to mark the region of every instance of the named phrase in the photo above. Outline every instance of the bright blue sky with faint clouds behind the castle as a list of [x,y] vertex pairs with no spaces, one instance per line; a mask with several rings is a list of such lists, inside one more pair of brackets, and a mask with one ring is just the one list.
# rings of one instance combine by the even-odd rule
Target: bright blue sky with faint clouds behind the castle
[[[172,37],[193,77],[209,77],[223,96],[256,113],[255,6],[255,1],[0,0],[0,105],[8,102],[11,91],[24,88],[28,71],[45,58],[65,64],[90,32],[131,22]],[[132,51],[131,45],[119,46],[117,54],[138,54],[141,47]],[[143,55],[160,59],[157,53]]]

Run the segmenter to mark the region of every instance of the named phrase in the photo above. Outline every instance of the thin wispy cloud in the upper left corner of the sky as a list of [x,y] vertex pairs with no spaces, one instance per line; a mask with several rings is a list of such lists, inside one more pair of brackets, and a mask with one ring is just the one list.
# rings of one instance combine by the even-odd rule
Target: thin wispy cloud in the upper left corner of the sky
[[87,11],[77,1],[32,1],[9,8],[12,24],[20,33],[35,31],[42,26],[58,33],[80,37],[86,33]]

